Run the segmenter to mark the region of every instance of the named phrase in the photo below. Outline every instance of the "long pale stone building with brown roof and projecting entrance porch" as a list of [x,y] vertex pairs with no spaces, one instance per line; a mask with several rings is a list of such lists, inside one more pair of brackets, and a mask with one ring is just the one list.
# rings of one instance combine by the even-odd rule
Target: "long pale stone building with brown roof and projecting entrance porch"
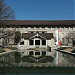
[[0,21],[0,29],[20,31],[21,40],[17,47],[22,51],[28,51],[26,55],[29,51],[33,51],[34,55],[40,55],[41,50],[48,55],[47,47],[52,49],[59,43],[75,45],[75,20],[7,20],[5,24]]

